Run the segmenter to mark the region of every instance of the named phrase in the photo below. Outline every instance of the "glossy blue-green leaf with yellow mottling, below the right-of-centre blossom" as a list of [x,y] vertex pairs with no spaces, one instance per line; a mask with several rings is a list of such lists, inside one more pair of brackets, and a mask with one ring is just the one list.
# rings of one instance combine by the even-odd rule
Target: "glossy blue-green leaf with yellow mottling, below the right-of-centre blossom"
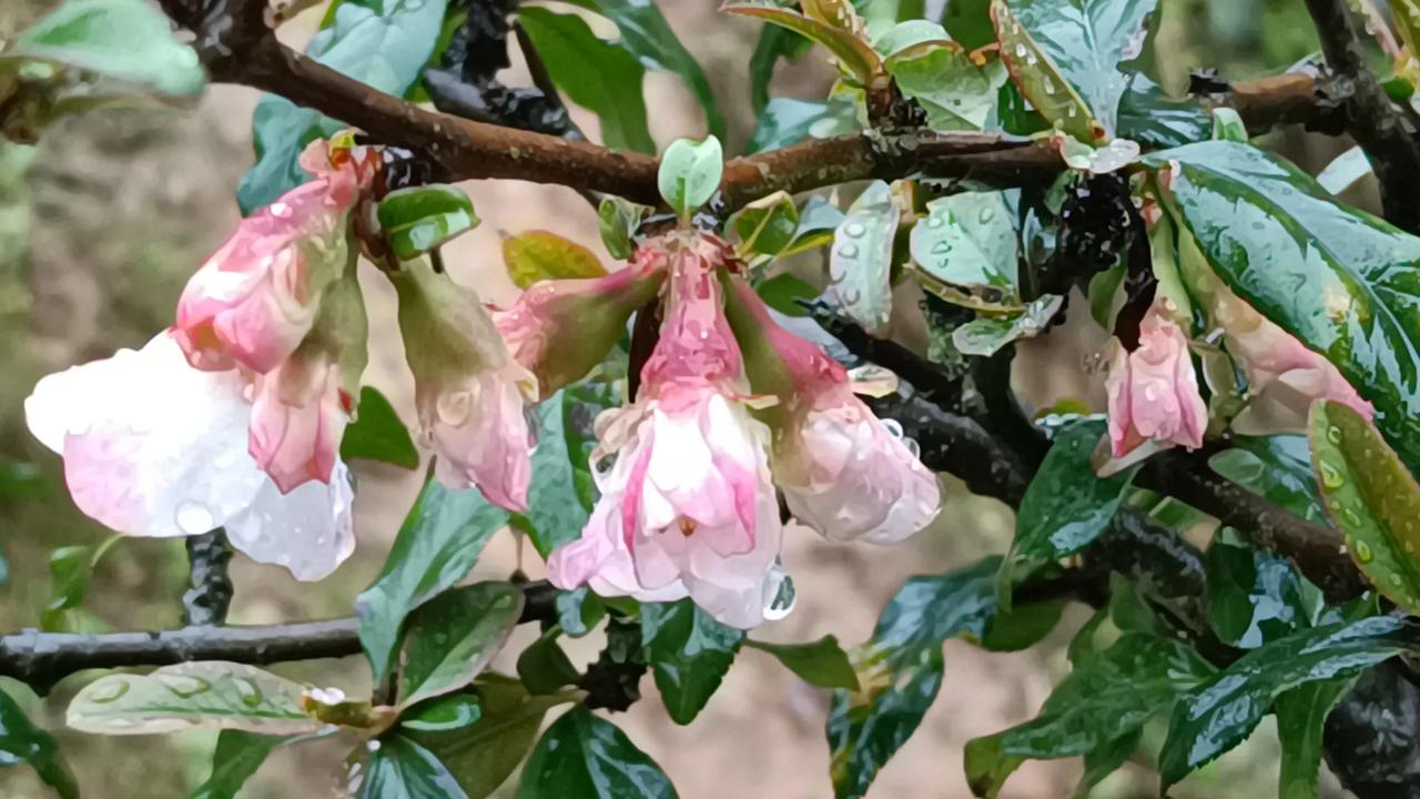
[[950,574],[907,580],[859,650],[858,691],[834,691],[829,775],[838,799],[862,796],[922,724],[941,687],[941,644],[981,638],[995,614],[998,557]]

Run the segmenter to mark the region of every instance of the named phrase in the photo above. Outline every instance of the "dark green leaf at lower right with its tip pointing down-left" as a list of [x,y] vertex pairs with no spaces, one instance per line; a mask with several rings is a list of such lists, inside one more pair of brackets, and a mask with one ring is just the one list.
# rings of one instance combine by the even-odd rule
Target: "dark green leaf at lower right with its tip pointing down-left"
[[977,796],[994,798],[1027,759],[1091,755],[1132,741],[1150,717],[1213,674],[1186,643],[1129,633],[1062,680],[1037,718],[968,742],[967,783]]

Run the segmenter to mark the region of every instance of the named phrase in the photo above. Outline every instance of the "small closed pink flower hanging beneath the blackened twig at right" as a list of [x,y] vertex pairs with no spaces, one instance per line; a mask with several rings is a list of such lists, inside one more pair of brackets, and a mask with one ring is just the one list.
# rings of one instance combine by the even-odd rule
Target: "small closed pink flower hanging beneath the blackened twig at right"
[[1126,353],[1112,343],[1109,441],[1123,458],[1146,441],[1203,446],[1208,408],[1189,355],[1189,338],[1156,303],[1139,324],[1139,347]]

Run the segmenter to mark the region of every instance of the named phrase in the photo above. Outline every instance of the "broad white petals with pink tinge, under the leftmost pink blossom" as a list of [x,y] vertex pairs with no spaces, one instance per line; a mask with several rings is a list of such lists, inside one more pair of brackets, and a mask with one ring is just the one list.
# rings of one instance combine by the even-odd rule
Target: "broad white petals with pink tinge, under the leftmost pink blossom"
[[352,489],[283,493],[247,454],[251,405],[237,371],[199,371],[168,333],[142,350],[51,374],[24,411],[30,431],[64,456],[74,503],[131,536],[190,536],[223,526],[253,559],[318,580],[351,554]]

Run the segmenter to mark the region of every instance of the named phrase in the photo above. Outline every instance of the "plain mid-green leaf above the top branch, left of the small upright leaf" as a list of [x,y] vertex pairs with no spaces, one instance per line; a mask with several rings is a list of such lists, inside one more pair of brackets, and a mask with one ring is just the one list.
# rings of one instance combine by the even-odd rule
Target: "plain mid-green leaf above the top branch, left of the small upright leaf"
[[612,149],[656,152],[646,127],[642,80],[646,70],[622,47],[604,41],[581,17],[538,6],[518,9],[518,24],[547,65],[557,88],[596,114],[602,142]]

